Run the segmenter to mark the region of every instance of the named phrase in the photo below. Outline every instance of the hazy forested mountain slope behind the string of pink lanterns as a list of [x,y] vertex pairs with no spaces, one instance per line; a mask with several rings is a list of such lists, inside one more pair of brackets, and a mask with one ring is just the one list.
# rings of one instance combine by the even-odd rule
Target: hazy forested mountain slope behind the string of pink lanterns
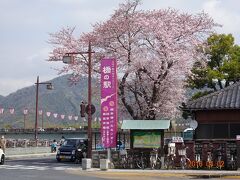
[[[70,75],[57,77],[51,82],[54,86],[53,90],[47,90],[44,84],[39,86],[38,110],[43,110],[43,117],[38,116],[38,124],[41,127],[42,120],[44,128],[47,127],[68,127],[77,126],[83,122],[80,117],[80,104],[82,101],[88,101],[88,78],[82,77],[76,85],[71,85],[69,81]],[[92,80],[92,104],[96,107],[93,119],[100,116],[100,89],[97,81]],[[4,113],[0,114],[0,128],[23,128],[24,114],[23,110],[28,109],[25,116],[26,128],[33,128],[36,114],[36,86],[30,86],[16,91],[6,97],[0,96],[0,107],[4,108]],[[14,113],[10,113],[10,108],[14,108]],[[48,117],[46,112],[51,112]],[[57,113],[55,118],[53,113]],[[60,115],[65,115],[61,119]],[[72,116],[72,120],[69,120]],[[78,116],[78,120],[74,117]],[[43,119],[42,119],[43,118]]]

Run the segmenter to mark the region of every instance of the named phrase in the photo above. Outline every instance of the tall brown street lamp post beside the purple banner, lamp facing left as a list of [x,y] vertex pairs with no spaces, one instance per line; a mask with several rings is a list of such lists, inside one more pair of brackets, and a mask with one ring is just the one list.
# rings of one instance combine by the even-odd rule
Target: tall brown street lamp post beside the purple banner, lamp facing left
[[66,53],[63,56],[63,63],[71,64],[73,63],[73,56],[74,54],[88,54],[88,108],[87,108],[87,114],[88,114],[88,151],[87,151],[87,158],[92,158],[92,53],[94,53],[91,49],[91,43],[88,44],[88,51],[84,52],[70,52]]

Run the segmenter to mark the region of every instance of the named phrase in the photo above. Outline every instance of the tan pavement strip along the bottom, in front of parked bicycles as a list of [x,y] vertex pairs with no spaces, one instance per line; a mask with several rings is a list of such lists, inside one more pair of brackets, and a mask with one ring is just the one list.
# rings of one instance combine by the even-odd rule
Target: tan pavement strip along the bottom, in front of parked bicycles
[[89,170],[69,170],[71,174],[98,177],[104,179],[240,179],[240,171],[217,170],[140,170],[140,169],[109,169],[102,171],[99,168]]

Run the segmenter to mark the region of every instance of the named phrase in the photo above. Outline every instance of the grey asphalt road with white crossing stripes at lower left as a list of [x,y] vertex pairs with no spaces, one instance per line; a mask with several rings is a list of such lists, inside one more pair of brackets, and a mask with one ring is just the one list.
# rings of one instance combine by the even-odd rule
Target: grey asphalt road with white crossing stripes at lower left
[[58,163],[54,158],[44,157],[24,160],[7,160],[0,165],[0,180],[98,180],[97,177],[68,173],[81,170],[79,164]]

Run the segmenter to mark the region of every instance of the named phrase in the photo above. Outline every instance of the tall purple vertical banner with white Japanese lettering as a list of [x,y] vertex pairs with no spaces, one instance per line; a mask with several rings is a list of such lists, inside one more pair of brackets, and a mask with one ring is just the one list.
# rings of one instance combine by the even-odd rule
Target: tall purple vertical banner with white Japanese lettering
[[116,147],[117,139],[117,63],[101,60],[101,139],[105,148]]

